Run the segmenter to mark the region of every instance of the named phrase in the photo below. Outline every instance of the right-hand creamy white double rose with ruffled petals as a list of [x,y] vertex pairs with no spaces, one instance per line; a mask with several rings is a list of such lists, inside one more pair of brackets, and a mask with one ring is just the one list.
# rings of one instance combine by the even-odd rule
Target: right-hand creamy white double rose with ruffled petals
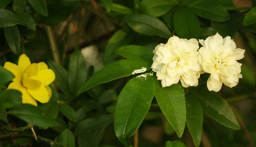
[[244,51],[236,49],[236,43],[230,36],[222,39],[217,33],[209,36],[205,40],[199,40],[203,45],[199,49],[201,59],[200,64],[203,66],[205,73],[210,73],[207,81],[207,88],[210,91],[219,91],[222,83],[228,87],[234,87],[238,83],[238,78],[242,78],[241,63],[236,60],[244,58]]

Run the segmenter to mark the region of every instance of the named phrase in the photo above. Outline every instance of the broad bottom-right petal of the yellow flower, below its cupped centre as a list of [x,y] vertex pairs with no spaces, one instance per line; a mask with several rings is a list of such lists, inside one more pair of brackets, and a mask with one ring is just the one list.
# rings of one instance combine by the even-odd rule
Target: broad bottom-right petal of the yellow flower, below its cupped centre
[[50,100],[49,92],[44,86],[38,89],[28,89],[28,93],[41,103],[47,103]]

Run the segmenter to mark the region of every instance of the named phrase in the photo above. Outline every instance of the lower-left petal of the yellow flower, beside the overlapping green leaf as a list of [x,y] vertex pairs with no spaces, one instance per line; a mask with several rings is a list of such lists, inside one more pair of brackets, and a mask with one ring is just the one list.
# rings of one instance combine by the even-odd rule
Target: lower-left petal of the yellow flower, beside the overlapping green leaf
[[32,104],[34,106],[37,106],[36,99],[28,94],[27,89],[23,87],[20,82],[13,81],[11,84],[9,84],[7,89],[19,90],[22,94],[21,98],[23,104]]

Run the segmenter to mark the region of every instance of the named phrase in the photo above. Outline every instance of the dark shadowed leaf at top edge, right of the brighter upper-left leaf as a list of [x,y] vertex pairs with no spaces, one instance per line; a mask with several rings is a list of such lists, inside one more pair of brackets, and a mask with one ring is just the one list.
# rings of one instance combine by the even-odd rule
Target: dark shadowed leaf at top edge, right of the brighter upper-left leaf
[[70,2],[67,0],[50,1],[47,3],[48,16],[42,16],[39,21],[49,25],[58,24],[66,20],[80,4],[80,2]]

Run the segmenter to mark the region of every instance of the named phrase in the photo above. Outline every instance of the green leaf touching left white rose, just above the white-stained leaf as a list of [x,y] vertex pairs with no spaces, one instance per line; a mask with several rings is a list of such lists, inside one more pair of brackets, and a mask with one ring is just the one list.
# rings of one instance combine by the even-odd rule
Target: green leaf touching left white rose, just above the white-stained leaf
[[138,59],[153,63],[154,53],[149,48],[140,45],[125,45],[115,50],[115,53],[127,59]]

